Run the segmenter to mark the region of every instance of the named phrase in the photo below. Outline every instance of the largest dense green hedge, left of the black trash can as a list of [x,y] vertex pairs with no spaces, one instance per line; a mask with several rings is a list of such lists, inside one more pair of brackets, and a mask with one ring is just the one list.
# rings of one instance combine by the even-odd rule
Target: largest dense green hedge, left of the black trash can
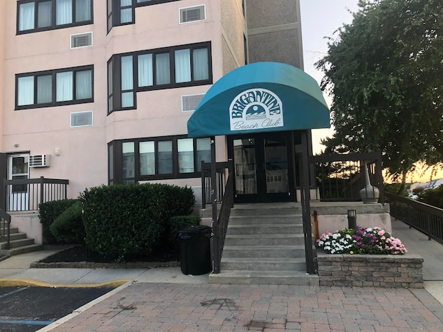
[[87,246],[126,260],[167,239],[169,220],[192,211],[192,189],[158,183],[92,187],[80,195]]

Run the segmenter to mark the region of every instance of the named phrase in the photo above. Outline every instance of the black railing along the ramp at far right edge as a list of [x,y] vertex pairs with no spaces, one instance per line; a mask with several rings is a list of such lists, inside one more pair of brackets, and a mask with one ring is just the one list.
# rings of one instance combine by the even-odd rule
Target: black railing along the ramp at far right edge
[[443,243],[443,209],[386,192],[390,215]]

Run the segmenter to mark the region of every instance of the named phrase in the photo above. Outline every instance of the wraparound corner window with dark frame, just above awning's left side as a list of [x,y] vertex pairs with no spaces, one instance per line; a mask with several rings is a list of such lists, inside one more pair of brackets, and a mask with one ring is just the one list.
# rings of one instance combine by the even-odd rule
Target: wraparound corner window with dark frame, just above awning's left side
[[108,113],[136,108],[136,92],[212,84],[210,42],[114,55]]

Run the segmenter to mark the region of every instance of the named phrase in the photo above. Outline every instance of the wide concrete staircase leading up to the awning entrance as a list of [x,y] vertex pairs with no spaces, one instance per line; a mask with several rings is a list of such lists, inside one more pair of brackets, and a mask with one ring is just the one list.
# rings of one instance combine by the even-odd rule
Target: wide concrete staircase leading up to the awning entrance
[[218,284],[316,285],[306,274],[302,210],[296,203],[235,205],[230,212]]

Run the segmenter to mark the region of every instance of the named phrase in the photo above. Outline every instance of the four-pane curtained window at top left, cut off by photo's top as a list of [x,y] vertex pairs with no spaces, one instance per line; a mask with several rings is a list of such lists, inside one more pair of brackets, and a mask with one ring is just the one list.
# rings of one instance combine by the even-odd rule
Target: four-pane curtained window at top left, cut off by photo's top
[[93,23],[93,0],[17,1],[17,33]]

